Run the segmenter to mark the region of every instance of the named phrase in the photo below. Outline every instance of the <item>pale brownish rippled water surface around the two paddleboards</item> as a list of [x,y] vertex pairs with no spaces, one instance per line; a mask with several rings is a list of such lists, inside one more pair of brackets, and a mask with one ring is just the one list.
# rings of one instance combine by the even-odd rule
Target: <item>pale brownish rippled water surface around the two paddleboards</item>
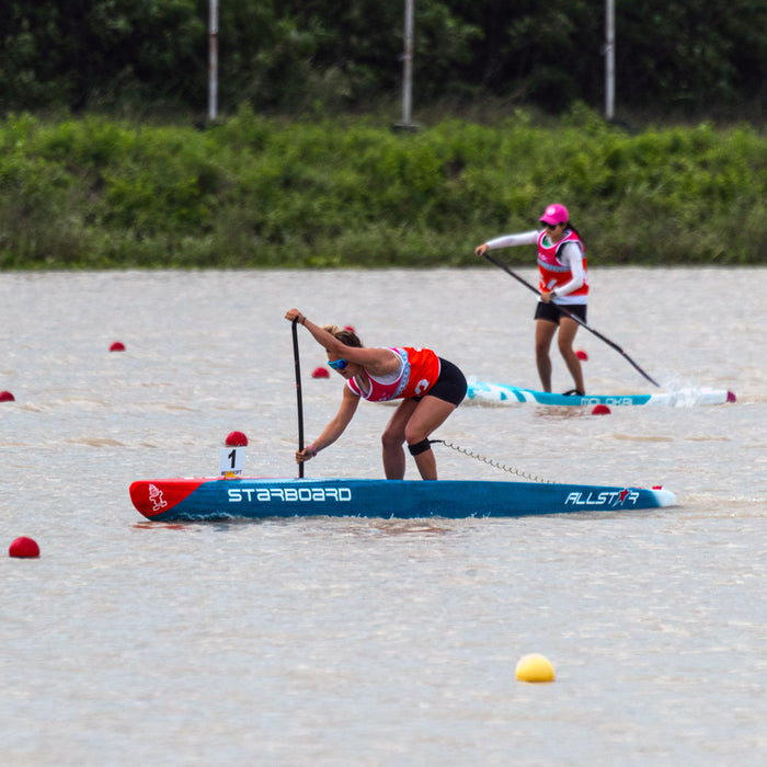
[[[230,431],[249,473],[294,474],[287,308],[537,388],[534,297],[497,270],[0,275],[1,526],[42,549],[0,559],[2,764],[762,764],[767,309],[734,270],[592,279],[589,324],[666,390],[739,401],[467,405],[437,436],[563,482],[663,484],[677,507],[162,525],[129,483],[217,473]],[[340,382],[310,378],[324,355],[300,342],[311,439]],[[591,392],[652,388],[576,346]],[[363,403],[307,473],[380,477],[390,413]],[[444,478],[512,479],[437,449]],[[529,652],[553,684],[515,680]]]

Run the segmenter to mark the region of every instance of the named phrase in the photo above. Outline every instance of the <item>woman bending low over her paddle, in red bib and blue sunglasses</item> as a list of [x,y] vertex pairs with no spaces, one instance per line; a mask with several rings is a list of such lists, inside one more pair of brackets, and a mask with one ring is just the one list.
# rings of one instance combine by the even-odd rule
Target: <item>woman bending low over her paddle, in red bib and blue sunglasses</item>
[[341,407],[335,417],[314,442],[296,451],[296,462],[313,458],[332,445],[354,417],[359,399],[386,402],[402,399],[389,420],[381,443],[387,479],[403,479],[403,445],[415,459],[422,479],[437,479],[437,463],[428,436],[466,397],[466,378],[453,363],[431,348],[368,348],[356,333],[337,325],[320,328],[298,309],[285,319],[302,324],[328,353],[328,365],[346,379]]

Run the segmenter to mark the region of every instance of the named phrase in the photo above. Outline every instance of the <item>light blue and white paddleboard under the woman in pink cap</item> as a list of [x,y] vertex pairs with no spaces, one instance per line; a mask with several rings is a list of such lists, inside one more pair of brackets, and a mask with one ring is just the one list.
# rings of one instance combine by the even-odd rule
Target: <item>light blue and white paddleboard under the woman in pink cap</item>
[[533,402],[549,405],[643,405],[660,404],[673,408],[689,408],[700,404],[724,404],[735,402],[735,394],[725,389],[678,389],[650,394],[554,394],[548,391],[523,389],[508,384],[469,382],[467,402],[478,404],[519,404]]

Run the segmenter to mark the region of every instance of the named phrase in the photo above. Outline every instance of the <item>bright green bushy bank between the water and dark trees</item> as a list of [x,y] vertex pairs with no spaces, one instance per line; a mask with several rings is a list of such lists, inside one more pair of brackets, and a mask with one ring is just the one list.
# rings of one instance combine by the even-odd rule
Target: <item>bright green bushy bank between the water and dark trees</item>
[[765,263],[767,140],[631,135],[579,106],[556,127],[520,111],[403,133],[248,107],[206,130],[0,122],[7,270],[473,265],[474,245],[554,201],[592,264]]

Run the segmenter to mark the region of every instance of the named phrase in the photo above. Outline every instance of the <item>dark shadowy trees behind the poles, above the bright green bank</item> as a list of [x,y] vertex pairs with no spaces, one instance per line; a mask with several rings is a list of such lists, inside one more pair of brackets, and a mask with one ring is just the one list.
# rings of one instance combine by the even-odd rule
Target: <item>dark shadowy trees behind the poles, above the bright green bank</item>
[[[220,112],[367,108],[401,89],[403,0],[219,0]],[[0,112],[186,110],[208,0],[3,0]],[[767,2],[615,0],[616,108],[762,121]],[[604,104],[604,0],[415,0],[414,107]]]

